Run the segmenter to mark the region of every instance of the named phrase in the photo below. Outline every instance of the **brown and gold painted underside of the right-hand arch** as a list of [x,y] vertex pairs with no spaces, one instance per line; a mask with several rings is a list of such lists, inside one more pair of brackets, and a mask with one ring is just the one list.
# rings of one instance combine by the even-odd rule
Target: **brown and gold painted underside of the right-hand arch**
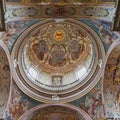
[[[104,104],[106,117],[120,114],[120,40],[110,47],[104,73]],[[117,111],[117,112],[116,112]]]

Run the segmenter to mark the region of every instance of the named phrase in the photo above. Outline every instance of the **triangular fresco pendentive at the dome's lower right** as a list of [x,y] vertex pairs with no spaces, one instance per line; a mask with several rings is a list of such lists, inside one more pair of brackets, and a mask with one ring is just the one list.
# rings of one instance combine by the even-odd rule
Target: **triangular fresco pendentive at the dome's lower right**
[[102,79],[82,98],[70,102],[83,109],[93,120],[105,120],[105,109],[102,100]]

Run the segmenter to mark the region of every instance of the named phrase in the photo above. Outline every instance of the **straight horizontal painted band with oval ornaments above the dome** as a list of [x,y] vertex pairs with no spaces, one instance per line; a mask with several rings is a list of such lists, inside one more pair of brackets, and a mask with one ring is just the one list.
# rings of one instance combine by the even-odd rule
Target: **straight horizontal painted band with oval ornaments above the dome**
[[89,18],[112,21],[114,12],[113,5],[7,5],[6,22],[41,18]]

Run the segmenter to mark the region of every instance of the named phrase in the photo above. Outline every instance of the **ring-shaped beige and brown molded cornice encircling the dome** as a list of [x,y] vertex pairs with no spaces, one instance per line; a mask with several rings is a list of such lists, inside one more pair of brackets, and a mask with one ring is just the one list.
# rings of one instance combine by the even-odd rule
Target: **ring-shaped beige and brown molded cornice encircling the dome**
[[80,84],[77,83],[74,87],[67,90],[50,91],[36,86],[32,82],[30,82],[30,80],[28,80],[25,75],[21,75],[21,73],[23,74],[22,68],[20,67],[21,52],[22,52],[21,46],[24,46],[25,41],[30,37],[29,33],[31,33],[31,35],[33,34],[32,33],[33,29],[37,29],[39,25],[50,23],[52,21],[54,21],[54,19],[43,20],[39,23],[36,23],[35,25],[28,28],[20,35],[20,37],[18,38],[17,42],[13,47],[11,54],[12,61],[17,61],[16,65],[13,64],[13,77],[18,87],[25,94],[32,97],[33,99],[45,103],[53,103],[54,101],[59,103],[69,102],[77,98],[80,98],[86,93],[88,93],[99,81],[101,74],[103,72],[105,51],[100,37],[97,35],[97,33],[94,30],[92,30],[89,26],[87,26],[86,24],[80,21],[73,19],[66,19],[65,21],[73,22],[74,24],[82,27],[82,29],[84,29],[87,33],[89,33],[89,37],[93,39],[92,42],[94,43],[94,47],[95,47],[94,52],[96,56],[92,71],[90,71],[90,74],[85,78],[83,83]]

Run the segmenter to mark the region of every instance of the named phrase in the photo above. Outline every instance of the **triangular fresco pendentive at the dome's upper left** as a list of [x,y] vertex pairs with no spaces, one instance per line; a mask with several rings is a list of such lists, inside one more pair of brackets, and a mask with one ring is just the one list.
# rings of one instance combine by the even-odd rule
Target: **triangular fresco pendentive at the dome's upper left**
[[6,46],[8,47],[9,51],[12,51],[12,47],[16,42],[19,35],[29,26],[36,23],[36,20],[31,21],[14,21],[8,22],[7,27],[8,29],[1,35],[1,39],[4,41]]

